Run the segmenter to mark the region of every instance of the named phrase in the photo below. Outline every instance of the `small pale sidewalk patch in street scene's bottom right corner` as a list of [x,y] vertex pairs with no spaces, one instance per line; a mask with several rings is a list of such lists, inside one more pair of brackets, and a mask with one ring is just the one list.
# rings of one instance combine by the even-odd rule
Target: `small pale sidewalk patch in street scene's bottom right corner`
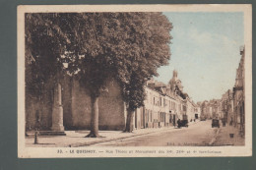
[[[233,134],[233,138],[229,136]],[[239,130],[233,126],[226,125],[220,128],[214,145],[244,145],[244,138],[240,137]]]

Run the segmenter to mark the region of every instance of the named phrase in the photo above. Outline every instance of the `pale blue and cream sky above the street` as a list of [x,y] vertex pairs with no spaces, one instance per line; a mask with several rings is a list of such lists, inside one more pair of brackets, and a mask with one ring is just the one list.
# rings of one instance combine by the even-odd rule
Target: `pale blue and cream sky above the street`
[[244,45],[243,13],[163,14],[173,25],[171,56],[155,79],[167,84],[175,69],[183,91],[195,102],[221,99],[234,85]]

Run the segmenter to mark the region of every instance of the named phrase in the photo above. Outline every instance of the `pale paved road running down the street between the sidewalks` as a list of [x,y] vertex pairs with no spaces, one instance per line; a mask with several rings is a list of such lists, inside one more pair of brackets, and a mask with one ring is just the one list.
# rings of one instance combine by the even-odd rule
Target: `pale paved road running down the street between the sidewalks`
[[100,142],[92,146],[178,146],[206,145],[211,142],[217,128],[211,127],[211,121],[197,122],[188,128],[168,129],[159,133],[143,135],[125,140]]

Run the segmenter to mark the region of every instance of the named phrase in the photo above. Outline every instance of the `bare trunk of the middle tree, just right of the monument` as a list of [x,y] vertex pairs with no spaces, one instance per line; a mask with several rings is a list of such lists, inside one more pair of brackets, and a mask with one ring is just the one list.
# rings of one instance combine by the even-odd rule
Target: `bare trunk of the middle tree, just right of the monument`
[[92,118],[91,118],[91,132],[87,138],[97,138],[98,135],[98,96],[91,95],[92,102]]

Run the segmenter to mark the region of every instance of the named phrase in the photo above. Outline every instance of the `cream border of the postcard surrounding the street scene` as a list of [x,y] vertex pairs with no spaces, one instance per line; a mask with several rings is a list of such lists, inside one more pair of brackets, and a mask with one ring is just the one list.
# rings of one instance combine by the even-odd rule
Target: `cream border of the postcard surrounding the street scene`
[[[25,13],[49,12],[242,12],[245,39],[245,145],[244,146],[151,146],[151,147],[26,147],[25,146]],[[24,5],[18,6],[18,157],[221,157],[252,155],[252,6],[251,4],[201,4],[201,5]],[[238,66],[237,66],[238,67]],[[57,150],[62,149],[63,154]],[[113,150],[114,154],[79,154],[78,150]],[[115,153],[116,149],[133,150],[133,153]],[[177,150],[184,153],[176,154]],[[75,153],[71,154],[70,150]],[[156,153],[135,153],[135,150],[156,150]],[[173,150],[173,153],[159,153]],[[198,153],[186,151],[197,150]],[[199,151],[206,153],[199,153]],[[221,154],[211,151],[222,151]]]

